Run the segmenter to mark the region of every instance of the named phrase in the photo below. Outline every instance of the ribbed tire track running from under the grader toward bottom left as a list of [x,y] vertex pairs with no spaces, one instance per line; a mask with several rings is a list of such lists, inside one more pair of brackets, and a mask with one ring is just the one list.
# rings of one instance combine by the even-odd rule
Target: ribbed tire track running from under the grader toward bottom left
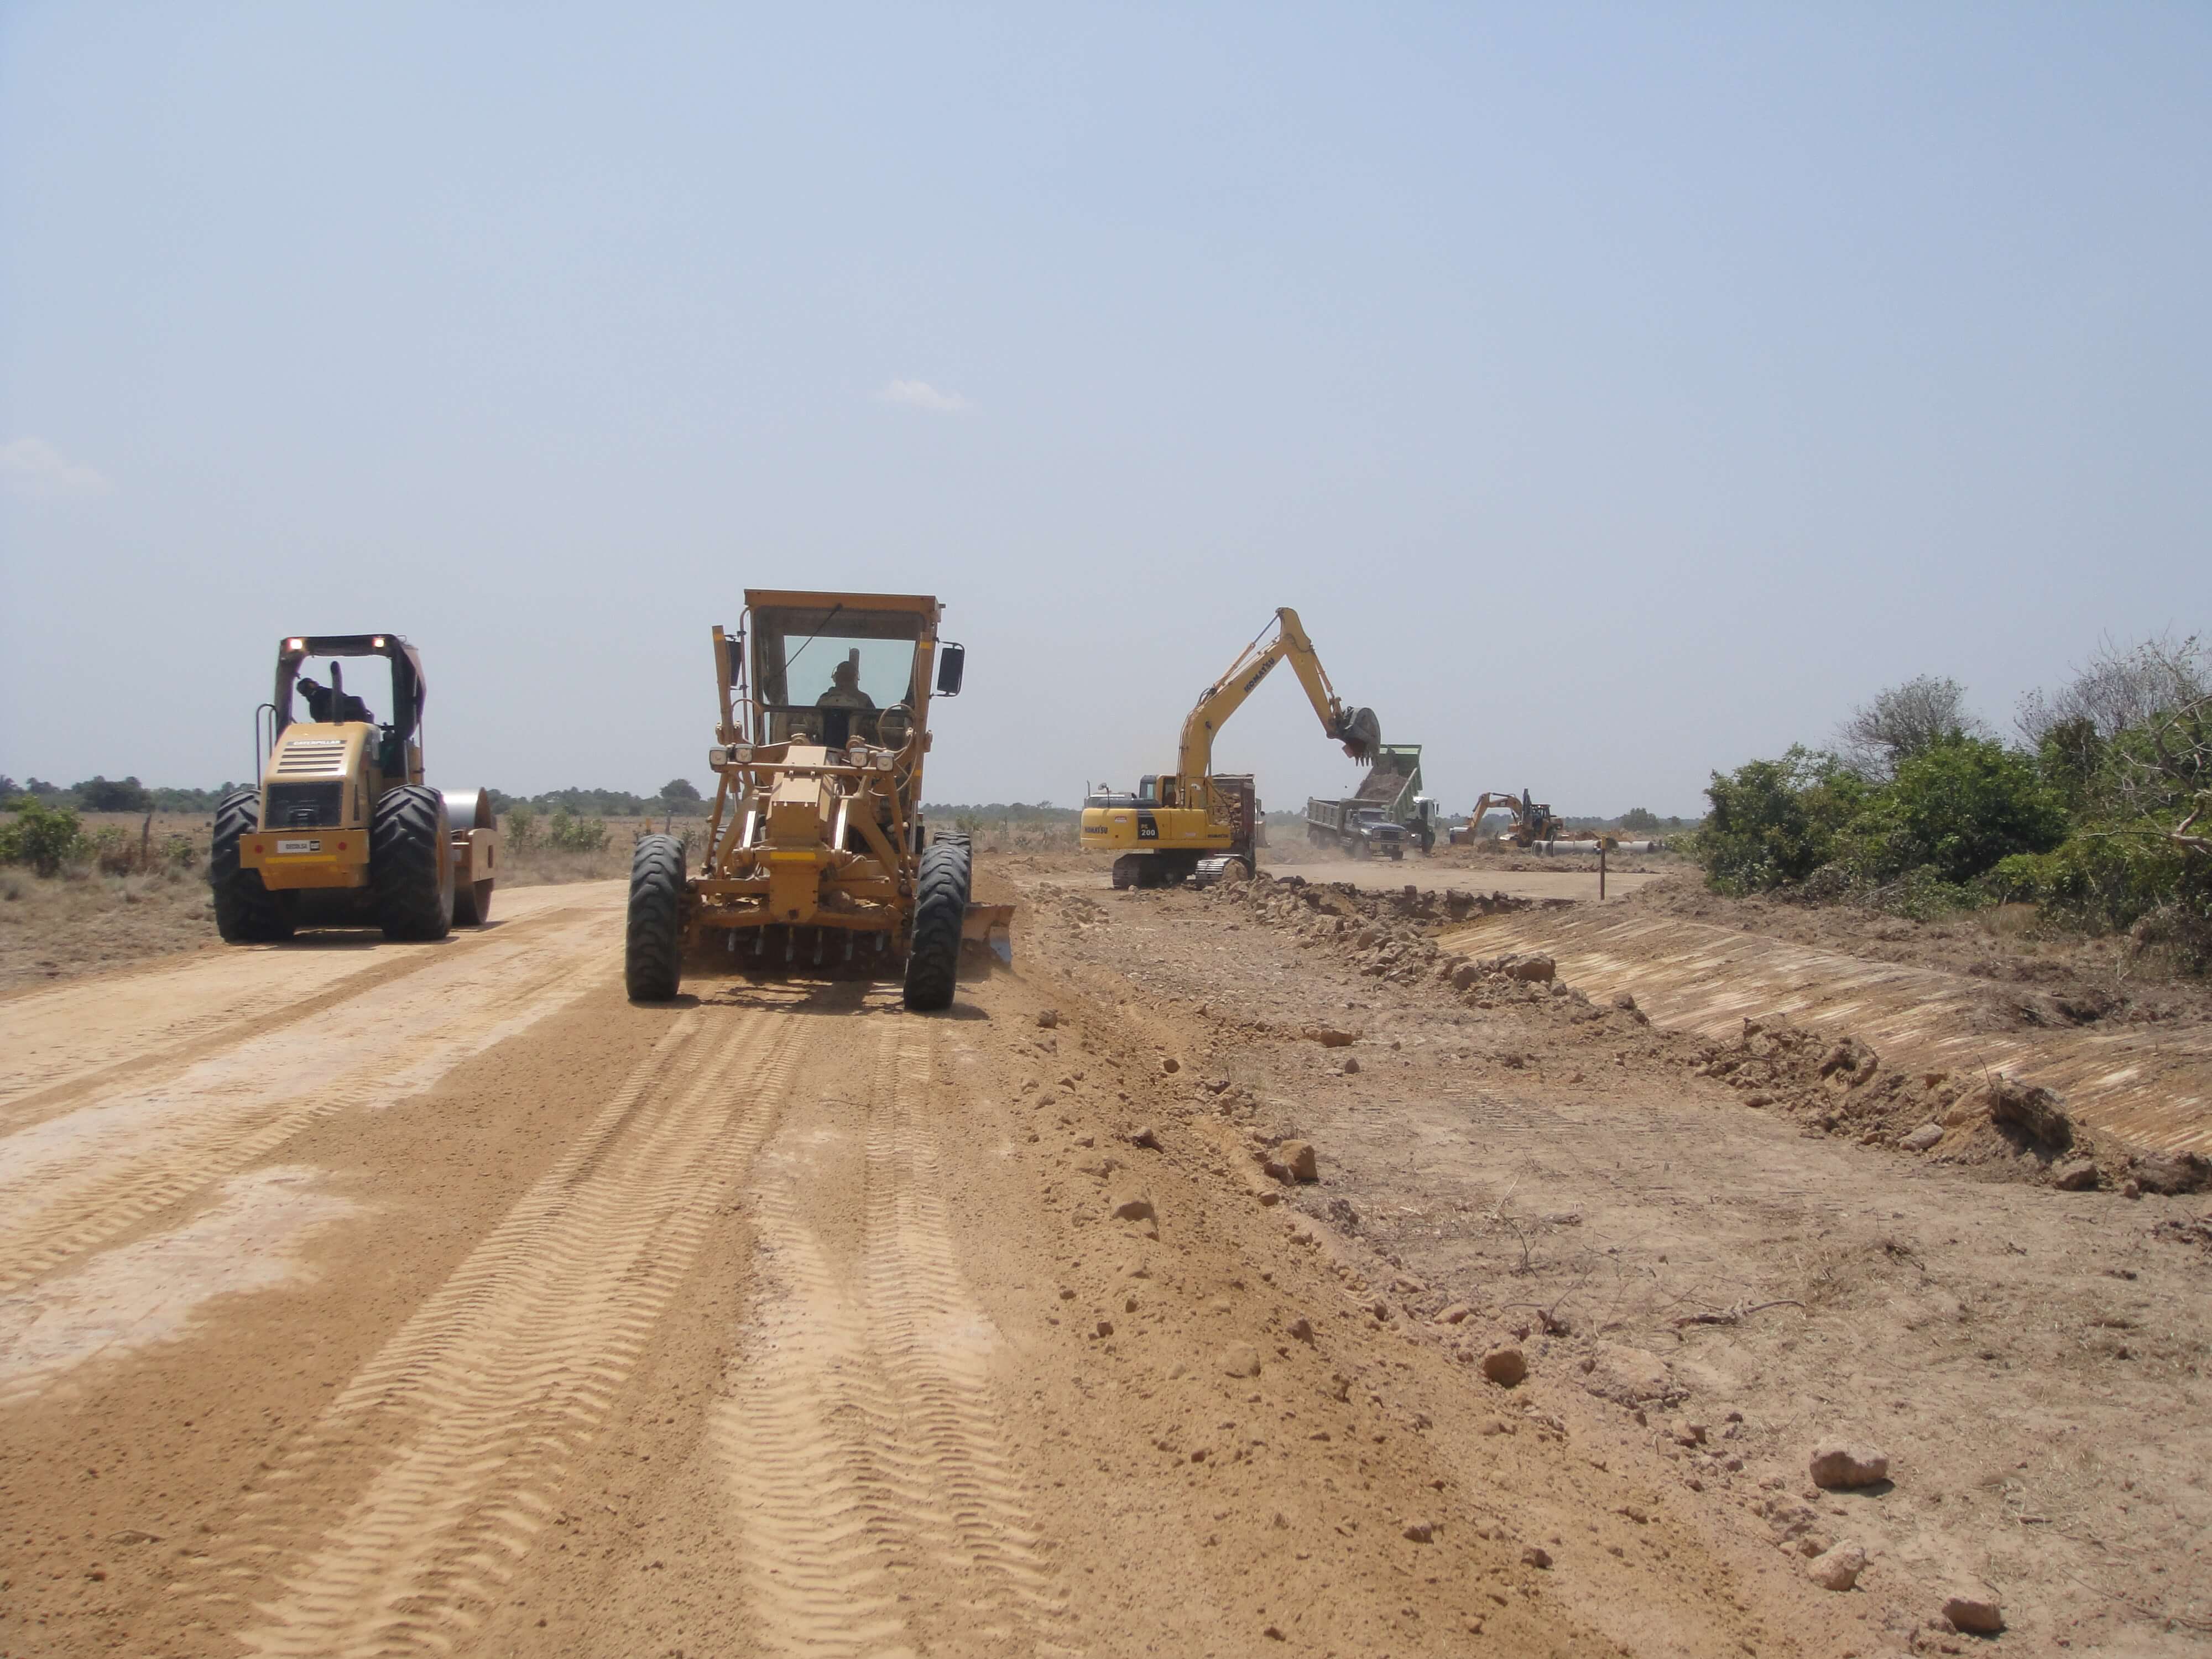
[[[263,1655],[447,1652],[555,1493],[783,1108],[796,1026],[688,1011],[248,1498],[192,1586]],[[345,1513],[303,1504],[358,1469]]]

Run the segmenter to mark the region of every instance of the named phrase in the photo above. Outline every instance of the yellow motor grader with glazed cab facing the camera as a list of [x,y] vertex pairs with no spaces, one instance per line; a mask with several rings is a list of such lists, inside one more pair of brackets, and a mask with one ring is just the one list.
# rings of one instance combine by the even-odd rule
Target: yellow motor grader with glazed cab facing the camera
[[956,697],[962,646],[911,593],[745,591],[714,628],[714,807],[686,860],[641,836],[624,982],[672,998],[686,962],[898,969],[909,1009],[953,1000],[962,940],[1009,956],[1011,905],[971,905],[967,836],[922,825],[931,697]]

